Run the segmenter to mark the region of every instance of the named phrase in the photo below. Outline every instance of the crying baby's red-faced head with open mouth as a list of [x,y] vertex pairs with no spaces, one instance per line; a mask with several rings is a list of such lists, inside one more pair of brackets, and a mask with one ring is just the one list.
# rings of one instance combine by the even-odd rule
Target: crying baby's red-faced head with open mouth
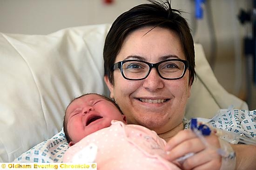
[[69,145],[74,145],[87,135],[111,125],[111,120],[126,123],[117,104],[100,94],[84,94],[67,106],[63,128]]

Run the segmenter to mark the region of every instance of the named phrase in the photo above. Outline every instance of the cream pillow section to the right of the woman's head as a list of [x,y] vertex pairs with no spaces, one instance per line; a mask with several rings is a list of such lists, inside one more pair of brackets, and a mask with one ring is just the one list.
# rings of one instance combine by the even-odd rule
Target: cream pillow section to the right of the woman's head
[[221,109],[231,105],[234,109],[248,110],[246,102],[228,93],[217,81],[205,57],[201,44],[195,44],[196,81],[192,85],[191,96],[186,107],[186,118],[212,118]]

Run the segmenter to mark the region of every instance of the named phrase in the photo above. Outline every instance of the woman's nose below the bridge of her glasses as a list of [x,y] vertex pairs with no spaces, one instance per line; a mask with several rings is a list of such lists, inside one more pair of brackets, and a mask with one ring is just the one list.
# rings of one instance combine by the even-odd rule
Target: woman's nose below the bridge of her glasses
[[163,79],[159,76],[155,68],[151,69],[148,77],[144,79],[142,86],[150,91],[156,91],[163,88]]

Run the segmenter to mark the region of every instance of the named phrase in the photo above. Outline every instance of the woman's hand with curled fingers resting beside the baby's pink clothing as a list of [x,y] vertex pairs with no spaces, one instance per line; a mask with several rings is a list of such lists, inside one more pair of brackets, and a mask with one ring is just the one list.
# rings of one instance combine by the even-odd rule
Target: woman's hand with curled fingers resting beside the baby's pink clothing
[[[208,146],[203,144],[191,129],[178,132],[166,145],[166,159],[184,170],[220,170],[222,157],[217,153],[217,149],[220,148],[218,137],[215,134],[204,137]],[[188,153],[194,155],[182,162],[176,161]]]

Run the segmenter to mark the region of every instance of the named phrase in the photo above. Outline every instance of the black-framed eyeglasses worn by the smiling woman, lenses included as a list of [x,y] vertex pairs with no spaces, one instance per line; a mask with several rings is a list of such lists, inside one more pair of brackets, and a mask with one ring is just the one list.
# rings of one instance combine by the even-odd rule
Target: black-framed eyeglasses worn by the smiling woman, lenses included
[[142,60],[124,60],[115,63],[111,71],[120,69],[123,78],[127,80],[142,80],[147,78],[152,68],[159,76],[167,80],[182,78],[189,68],[189,62],[181,59],[168,59],[158,63],[148,63]]

